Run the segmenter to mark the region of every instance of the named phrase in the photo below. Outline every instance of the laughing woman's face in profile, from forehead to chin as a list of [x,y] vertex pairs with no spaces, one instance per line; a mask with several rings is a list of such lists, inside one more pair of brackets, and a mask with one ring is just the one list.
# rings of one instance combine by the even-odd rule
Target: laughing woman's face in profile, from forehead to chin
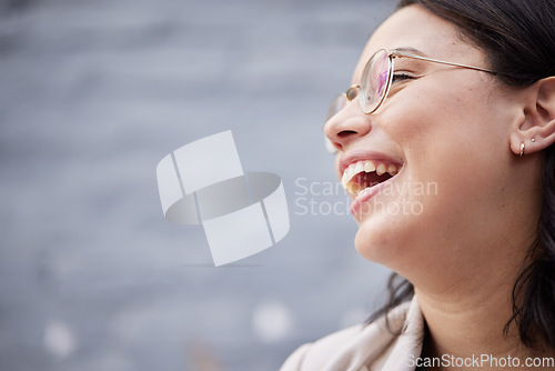
[[[353,84],[381,48],[488,68],[484,52],[454,24],[420,6],[401,9],[375,31]],[[354,99],[325,126],[339,148],[340,179],[346,182],[364,166],[370,172],[346,187],[354,190],[356,248],[407,278],[415,265],[422,272],[487,263],[493,247],[522,232],[515,215],[525,218],[531,209],[509,149],[522,116],[513,104],[518,91],[486,72],[406,58],[394,63],[396,77],[377,111],[364,114]],[[386,180],[369,161],[380,172],[393,166],[398,173]],[[381,183],[355,194],[370,182]]]

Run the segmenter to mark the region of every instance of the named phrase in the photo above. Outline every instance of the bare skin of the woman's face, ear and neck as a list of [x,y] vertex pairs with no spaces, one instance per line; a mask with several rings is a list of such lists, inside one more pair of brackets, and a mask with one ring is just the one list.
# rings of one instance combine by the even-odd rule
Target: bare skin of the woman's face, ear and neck
[[[454,24],[410,6],[370,38],[352,83],[376,50],[407,47],[488,68]],[[490,73],[410,59],[395,59],[395,72],[414,79],[395,82],[376,112],[364,114],[355,99],[324,128],[337,164],[370,149],[403,164],[392,180],[397,191],[376,194],[367,212],[355,213],[356,249],[414,284],[428,327],[426,357],[511,354],[524,362],[532,351],[516,329],[508,337],[503,329],[539,218],[539,151],[555,141],[555,80],[516,89]],[[431,183],[437,194],[406,190]],[[371,202],[418,204],[421,212],[380,212]],[[541,345],[533,355],[555,351]]]

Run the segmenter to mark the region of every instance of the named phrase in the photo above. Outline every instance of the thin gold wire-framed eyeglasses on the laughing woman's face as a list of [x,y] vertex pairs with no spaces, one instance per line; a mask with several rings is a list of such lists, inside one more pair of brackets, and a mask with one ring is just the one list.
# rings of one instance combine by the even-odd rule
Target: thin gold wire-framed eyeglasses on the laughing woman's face
[[[385,98],[387,97],[387,93],[390,92],[392,81],[394,80],[395,68],[393,60],[395,58],[417,59],[426,62],[441,63],[441,64],[466,68],[487,73],[500,74],[498,72],[485,68],[445,62],[436,59],[405,53],[398,50],[390,51],[387,49],[380,49],[370,58],[366,66],[364,67],[364,70],[362,72],[361,83],[350,87],[344,93],[340,93],[332,100],[332,103],[330,104],[330,108],[327,110],[326,121],[330,120],[337,112],[340,112],[343,108],[345,108],[345,106],[356,97],[359,97],[361,110],[364,113],[366,114],[374,113],[380,108],[380,106],[382,106]],[[327,140],[327,138],[326,138],[326,148],[331,153],[336,152],[336,149]]]

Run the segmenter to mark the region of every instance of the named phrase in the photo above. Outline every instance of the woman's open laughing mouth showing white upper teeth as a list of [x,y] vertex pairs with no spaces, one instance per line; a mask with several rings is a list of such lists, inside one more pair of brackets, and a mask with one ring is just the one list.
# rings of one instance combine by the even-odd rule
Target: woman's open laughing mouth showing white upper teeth
[[402,166],[377,160],[362,160],[351,163],[341,179],[341,184],[352,195],[356,197],[364,190],[371,189],[393,177]]

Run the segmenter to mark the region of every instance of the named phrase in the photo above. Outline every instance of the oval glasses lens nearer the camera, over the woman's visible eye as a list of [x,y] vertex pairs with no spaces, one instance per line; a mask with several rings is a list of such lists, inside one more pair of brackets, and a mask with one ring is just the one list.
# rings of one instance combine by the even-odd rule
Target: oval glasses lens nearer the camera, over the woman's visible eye
[[372,113],[385,99],[390,79],[390,57],[385,49],[380,49],[369,60],[362,76],[361,108]]

